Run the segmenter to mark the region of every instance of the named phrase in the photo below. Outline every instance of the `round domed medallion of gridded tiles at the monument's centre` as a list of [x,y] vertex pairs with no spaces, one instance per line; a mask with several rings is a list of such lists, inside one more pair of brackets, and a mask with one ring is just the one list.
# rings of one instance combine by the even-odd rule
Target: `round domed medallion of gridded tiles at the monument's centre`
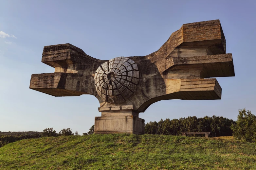
[[128,57],[117,57],[99,66],[94,76],[95,88],[103,102],[120,104],[137,89],[139,70]]

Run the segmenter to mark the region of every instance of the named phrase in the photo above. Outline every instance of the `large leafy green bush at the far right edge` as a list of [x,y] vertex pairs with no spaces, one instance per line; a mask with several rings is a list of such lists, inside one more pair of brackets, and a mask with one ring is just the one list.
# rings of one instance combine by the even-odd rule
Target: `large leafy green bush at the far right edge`
[[256,142],[256,116],[243,108],[239,110],[236,123],[231,125],[234,138],[242,141]]

